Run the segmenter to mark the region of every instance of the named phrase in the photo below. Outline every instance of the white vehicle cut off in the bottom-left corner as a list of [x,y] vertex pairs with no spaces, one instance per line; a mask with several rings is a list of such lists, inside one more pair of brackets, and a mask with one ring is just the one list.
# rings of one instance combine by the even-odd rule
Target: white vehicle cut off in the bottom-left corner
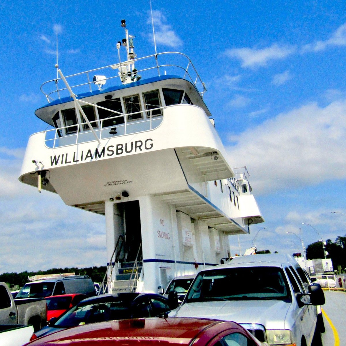
[[33,326],[0,325],[0,346],[22,346],[34,334]]

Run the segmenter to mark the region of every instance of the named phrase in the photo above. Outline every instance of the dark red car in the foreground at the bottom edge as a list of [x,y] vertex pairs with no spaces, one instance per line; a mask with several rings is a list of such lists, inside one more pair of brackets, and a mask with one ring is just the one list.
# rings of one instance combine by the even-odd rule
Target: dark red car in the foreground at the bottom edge
[[58,331],[28,345],[262,346],[235,322],[202,318],[140,318],[91,323]]

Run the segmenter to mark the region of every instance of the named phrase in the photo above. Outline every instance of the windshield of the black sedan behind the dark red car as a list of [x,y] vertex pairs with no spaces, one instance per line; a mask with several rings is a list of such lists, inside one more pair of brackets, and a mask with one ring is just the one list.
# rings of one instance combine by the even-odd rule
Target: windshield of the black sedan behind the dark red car
[[91,303],[73,307],[59,318],[52,327],[68,328],[87,323],[125,318],[131,318],[130,306],[126,301]]

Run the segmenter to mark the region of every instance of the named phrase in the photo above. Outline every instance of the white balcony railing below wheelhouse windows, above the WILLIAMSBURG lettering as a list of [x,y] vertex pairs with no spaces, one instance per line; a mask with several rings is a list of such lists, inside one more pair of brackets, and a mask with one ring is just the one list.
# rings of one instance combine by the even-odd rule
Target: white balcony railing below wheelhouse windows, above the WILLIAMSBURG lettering
[[[117,113],[117,115],[114,117],[90,121],[90,124],[93,127],[93,130],[99,140],[113,137],[114,134],[110,134],[110,130],[112,128],[117,129],[118,136],[128,135],[130,133],[140,133],[140,132],[153,130],[156,127],[158,127],[163,121],[164,107],[123,114],[123,113],[115,112],[101,106],[97,106],[96,104],[93,106],[106,109],[113,113]],[[156,115],[153,116],[153,112],[157,110],[162,110],[161,116],[156,116]],[[149,116],[147,116],[148,113],[149,113]],[[136,115],[140,115],[142,120],[141,119],[128,120],[131,117],[136,117]],[[115,123],[116,119],[120,119],[120,118],[124,119],[123,124],[114,124],[107,127],[103,126],[104,121],[108,122],[110,120],[113,120],[113,123]],[[95,126],[93,126],[94,124]],[[76,130],[74,130],[75,128]],[[83,128],[86,128],[86,129],[82,131],[81,129]],[[44,132],[45,132],[45,144],[48,148],[62,147],[62,146],[71,145],[71,144],[91,142],[95,140],[95,137],[92,136],[91,131],[89,130],[88,124],[86,122],[54,128],[51,130],[45,130]],[[64,133],[70,132],[71,134],[66,134],[66,135],[64,134],[62,136],[61,133],[63,132]],[[60,141],[62,143],[60,143]]]

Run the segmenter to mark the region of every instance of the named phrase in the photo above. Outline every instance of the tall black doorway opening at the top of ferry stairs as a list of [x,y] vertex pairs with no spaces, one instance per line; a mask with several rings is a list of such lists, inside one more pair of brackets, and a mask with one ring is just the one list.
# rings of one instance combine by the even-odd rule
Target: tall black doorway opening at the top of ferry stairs
[[[127,255],[126,260],[135,261],[137,253],[138,253],[139,245],[142,243],[139,201],[125,202],[124,215],[125,215],[125,244],[126,244],[126,255]],[[140,248],[139,258],[141,256],[142,256],[142,247]]]

